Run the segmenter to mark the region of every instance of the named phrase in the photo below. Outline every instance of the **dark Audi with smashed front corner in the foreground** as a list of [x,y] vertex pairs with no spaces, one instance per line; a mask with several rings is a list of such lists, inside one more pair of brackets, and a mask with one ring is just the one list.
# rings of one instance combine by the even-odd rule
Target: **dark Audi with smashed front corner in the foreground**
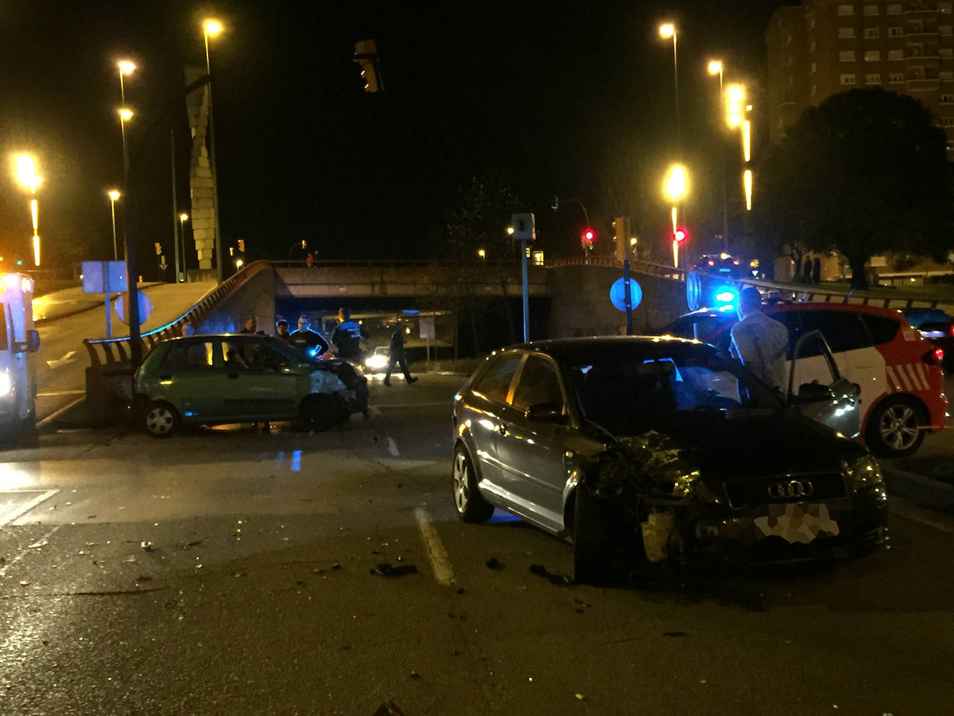
[[881,471],[824,419],[855,393],[810,388],[785,399],[715,347],[671,337],[496,351],[454,396],[458,515],[502,508],[569,538],[577,581],[621,559],[870,551],[887,534]]

